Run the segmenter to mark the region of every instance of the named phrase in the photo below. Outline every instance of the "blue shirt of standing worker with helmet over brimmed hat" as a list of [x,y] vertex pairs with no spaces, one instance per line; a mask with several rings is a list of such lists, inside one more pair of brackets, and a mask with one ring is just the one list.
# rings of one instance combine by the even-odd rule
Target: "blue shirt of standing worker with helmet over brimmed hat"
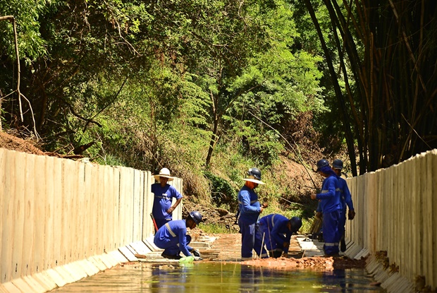
[[238,208],[240,208],[240,220],[256,223],[261,212],[257,193],[247,186],[242,186],[238,192]]

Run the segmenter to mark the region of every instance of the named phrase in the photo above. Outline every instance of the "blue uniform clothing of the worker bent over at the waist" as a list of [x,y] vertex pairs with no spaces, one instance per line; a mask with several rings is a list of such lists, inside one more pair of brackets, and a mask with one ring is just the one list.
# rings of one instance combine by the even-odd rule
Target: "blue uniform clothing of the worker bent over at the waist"
[[[293,234],[287,227],[289,221],[283,215],[266,215],[259,220],[259,229],[261,229],[261,232],[266,233],[266,237],[271,237],[271,242],[275,242],[279,247],[283,247],[284,242],[290,243],[290,238]],[[288,253],[288,246],[283,247],[283,251]]]

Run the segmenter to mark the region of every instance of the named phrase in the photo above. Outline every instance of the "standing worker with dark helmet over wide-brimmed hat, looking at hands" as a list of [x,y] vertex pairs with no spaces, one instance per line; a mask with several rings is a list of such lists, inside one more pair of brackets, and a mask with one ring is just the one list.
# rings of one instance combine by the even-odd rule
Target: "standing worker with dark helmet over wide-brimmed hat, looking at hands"
[[254,189],[259,184],[264,184],[261,181],[261,171],[257,168],[250,168],[247,171],[247,178],[243,179],[245,185],[238,192],[238,208],[240,217],[238,217],[238,226],[241,232],[241,259],[247,261],[252,259],[252,250],[261,258],[268,258],[266,249],[262,244],[261,232],[258,229],[259,215],[264,208],[267,208],[267,203],[262,205],[258,201],[258,195]]

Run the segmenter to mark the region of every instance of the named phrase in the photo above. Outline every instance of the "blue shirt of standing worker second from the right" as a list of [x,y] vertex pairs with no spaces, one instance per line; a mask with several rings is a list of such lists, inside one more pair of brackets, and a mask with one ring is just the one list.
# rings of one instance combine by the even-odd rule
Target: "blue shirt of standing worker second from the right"
[[316,198],[321,200],[319,201],[319,205],[322,213],[332,213],[335,210],[341,209],[338,182],[338,177],[333,175],[324,179],[321,185],[321,193],[317,193],[316,195]]

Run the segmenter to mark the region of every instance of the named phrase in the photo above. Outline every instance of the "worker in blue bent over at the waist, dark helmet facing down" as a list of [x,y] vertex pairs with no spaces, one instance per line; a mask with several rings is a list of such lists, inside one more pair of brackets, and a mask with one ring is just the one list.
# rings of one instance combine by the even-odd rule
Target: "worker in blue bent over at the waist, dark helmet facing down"
[[270,257],[278,258],[282,253],[288,257],[291,235],[296,233],[300,227],[302,227],[300,217],[292,217],[290,220],[279,214],[261,217],[259,231],[261,231]]

